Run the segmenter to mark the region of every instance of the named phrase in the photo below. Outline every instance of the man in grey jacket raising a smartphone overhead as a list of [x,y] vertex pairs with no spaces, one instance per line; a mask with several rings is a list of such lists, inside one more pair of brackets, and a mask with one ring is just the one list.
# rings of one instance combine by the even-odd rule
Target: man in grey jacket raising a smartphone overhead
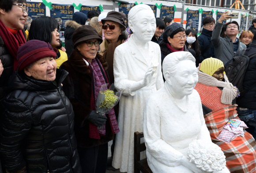
[[221,60],[223,64],[230,61],[236,52],[246,48],[246,45],[241,43],[239,38],[237,38],[239,25],[236,21],[226,23],[226,37],[220,37],[222,26],[224,24],[223,21],[232,17],[232,14],[228,15],[227,13],[229,12],[224,12],[218,19],[211,36],[211,41],[215,48],[215,58]]

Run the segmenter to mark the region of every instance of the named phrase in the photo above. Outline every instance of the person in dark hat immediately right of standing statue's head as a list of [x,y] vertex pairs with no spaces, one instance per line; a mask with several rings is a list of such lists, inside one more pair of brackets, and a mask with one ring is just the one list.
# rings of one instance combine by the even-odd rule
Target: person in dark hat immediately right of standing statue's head
[[156,20],[156,30],[154,32],[154,36],[152,37],[151,41],[159,44],[163,40],[162,33],[165,31],[166,25],[162,18],[156,18],[155,20]]

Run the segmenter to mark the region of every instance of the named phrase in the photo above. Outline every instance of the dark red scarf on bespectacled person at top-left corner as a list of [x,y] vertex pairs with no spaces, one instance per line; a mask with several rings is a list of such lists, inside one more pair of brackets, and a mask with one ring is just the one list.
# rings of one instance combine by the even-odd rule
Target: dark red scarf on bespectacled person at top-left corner
[[0,20],[0,36],[2,37],[5,46],[9,50],[11,56],[13,56],[13,71],[18,67],[17,52],[20,46],[26,43],[22,30],[18,30],[14,35]]

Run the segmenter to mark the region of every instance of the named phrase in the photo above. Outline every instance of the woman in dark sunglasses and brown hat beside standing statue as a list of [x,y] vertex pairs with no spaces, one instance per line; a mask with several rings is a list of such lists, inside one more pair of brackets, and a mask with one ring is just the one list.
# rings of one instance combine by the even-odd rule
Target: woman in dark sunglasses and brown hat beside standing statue
[[127,22],[125,14],[117,11],[110,11],[107,17],[102,19],[105,39],[100,45],[100,54],[109,64],[110,83],[114,83],[114,51],[117,46],[128,39],[128,32],[126,31]]

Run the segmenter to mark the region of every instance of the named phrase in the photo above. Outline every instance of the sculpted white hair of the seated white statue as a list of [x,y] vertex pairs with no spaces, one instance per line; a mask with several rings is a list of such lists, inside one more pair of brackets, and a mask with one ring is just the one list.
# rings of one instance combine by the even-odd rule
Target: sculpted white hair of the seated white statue
[[173,52],[164,58],[163,61],[163,75],[166,79],[166,72],[169,72],[171,76],[174,76],[177,72],[177,64],[184,60],[191,60],[196,65],[196,58],[190,53],[185,51]]

